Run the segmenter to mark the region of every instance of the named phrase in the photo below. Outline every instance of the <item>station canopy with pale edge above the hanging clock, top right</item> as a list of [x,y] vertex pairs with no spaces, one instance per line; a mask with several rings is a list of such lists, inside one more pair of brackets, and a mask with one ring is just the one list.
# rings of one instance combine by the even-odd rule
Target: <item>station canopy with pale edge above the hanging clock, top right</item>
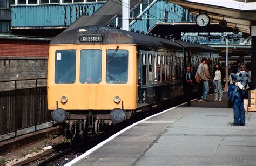
[[[211,24],[219,24],[220,20],[226,20],[227,27],[238,27],[240,32],[250,34],[250,26],[256,23],[256,1],[234,0],[169,0],[198,15],[207,13],[211,17]],[[227,29],[228,30],[228,29]]]

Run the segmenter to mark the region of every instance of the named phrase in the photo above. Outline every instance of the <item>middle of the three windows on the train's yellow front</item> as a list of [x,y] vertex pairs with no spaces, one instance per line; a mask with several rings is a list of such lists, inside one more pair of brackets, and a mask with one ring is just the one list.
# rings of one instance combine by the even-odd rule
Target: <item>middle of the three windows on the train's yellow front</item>
[[102,81],[102,50],[82,50],[80,53],[80,82]]

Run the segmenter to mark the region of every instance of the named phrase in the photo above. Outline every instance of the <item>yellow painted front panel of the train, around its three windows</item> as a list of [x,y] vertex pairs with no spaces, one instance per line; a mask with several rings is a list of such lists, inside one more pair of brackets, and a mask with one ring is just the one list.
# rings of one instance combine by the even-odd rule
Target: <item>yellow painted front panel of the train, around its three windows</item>
[[[106,83],[106,51],[108,49],[128,50],[128,81],[126,84]],[[76,82],[74,84],[55,84],[55,51],[76,50]],[[102,82],[99,84],[80,83],[80,51],[82,49],[102,50]],[[65,110],[112,110],[122,108],[122,102],[115,103],[114,96],[124,102],[124,109],[136,109],[138,93],[137,55],[135,45],[50,45],[48,60],[48,109],[58,107]],[[66,103],[60,98],[65,95]]]

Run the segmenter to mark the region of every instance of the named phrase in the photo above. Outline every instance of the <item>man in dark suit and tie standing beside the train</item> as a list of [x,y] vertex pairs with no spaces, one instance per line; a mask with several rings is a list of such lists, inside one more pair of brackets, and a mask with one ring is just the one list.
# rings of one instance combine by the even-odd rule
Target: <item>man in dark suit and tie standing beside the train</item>
[[192,96],[192,84],[193,84],[193,74],[190,72],[190,67],[186,68],[186,72],[183,74],[182,82],[183,82],[183,91],[187,100],[187,106],[191,106],[190,100]]

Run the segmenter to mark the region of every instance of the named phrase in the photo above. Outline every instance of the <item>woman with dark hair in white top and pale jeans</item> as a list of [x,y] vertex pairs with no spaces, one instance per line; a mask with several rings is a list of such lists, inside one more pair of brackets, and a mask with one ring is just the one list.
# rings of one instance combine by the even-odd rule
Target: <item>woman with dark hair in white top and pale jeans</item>
[[220,64],[216,64],[214,67],[214,79],[213,83],[215,84],[215,99],[214,101],[222,101],[223,89],[222,82],[224,78],[224,73]]

